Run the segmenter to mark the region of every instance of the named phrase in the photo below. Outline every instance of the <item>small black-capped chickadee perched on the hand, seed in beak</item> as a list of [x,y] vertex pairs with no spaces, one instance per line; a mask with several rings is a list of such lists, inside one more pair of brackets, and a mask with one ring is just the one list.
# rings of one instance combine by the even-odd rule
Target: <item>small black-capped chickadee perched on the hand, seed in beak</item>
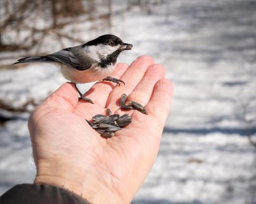
[[85,44],[61,49],[45,56],[25,57],[19,63],[50,63],[60,67],[63,77],[74,84],[80,99],[93,104],[77,88],[77,83],[89,83],[103,80],[115,82],[120,86],[124,81],[110,77],[115,70],[118,55],[124,50],[132,49],[132,44],[123,43],[115,35],[102,35]]

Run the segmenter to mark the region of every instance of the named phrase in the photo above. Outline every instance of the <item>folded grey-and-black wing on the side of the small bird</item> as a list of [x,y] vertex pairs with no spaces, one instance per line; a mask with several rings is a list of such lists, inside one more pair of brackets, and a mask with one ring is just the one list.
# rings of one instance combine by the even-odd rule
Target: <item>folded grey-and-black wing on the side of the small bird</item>
[[52,53],[50,55],[46,55],[46,57],[77,70],[90,69],[93,63],[89,57],[81,56],[81,54],[77,52],[77,49],[73,49],[72,47],[62,49],[59,52]]

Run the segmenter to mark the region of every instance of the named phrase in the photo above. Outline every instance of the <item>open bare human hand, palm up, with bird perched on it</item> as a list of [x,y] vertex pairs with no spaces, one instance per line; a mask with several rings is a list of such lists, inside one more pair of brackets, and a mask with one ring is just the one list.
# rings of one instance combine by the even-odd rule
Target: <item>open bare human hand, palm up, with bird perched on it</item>
[[[130,203],[153,166],[170,111],[172,83],[162,65],[149,56],[129,67],[118,64],[111,82],[95,83],[78,101],[73,84],[65,83],[37,107],[28,123],[37,167],[35,183],[62,186],[92,203]],[[148,115],[122,111],[122,94],[145,105]],[[96,114],[129,113],[132,123],[105,139],[85,119]]]

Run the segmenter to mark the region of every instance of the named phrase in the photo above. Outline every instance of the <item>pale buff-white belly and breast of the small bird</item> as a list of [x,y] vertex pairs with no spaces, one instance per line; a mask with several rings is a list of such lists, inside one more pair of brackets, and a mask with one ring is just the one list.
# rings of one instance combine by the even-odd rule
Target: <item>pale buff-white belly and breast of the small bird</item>
[[63,77],[75,83],[89,83],[102,80],[111,75],[114,70],[115,64],[110,64],[103,69],[99,66],[92,66],[90,69],[84,71],[76,70],[67,65],[62,65],[60,68]]

